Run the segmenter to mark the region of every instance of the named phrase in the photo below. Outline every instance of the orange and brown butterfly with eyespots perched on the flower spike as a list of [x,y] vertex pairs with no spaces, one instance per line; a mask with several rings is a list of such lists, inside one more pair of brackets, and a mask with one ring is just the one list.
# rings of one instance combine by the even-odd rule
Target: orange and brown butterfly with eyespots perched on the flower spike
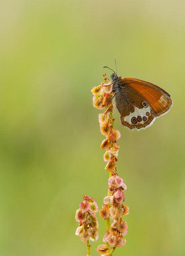
[[111,74],[111,81],[121,124],[131,130],[151,126],[173,105],[169,93],[162,88],[137,78],[118,76],[117,68]]

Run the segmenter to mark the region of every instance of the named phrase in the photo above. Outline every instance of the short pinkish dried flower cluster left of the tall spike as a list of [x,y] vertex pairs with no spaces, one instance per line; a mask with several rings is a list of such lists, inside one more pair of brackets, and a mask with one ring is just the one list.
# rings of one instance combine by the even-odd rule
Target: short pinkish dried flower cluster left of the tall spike
[[89,239],[97,241],[98,235],[98,220],[96,213],[98,212],[98,204],[94,198],[88,196],[83,197],[83,202],[80,203],[80,209],[76,211],[75,220],[79,222],[76,229],[76,235],[79,235],[82,242],[87,242]]

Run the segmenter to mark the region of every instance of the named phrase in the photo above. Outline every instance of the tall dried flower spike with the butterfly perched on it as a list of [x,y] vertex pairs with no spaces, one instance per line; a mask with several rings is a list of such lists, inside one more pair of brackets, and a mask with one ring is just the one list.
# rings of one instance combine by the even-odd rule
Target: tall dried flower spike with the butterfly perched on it
[[[122,216],[129,213],[129,207],[123,205],[125,196],[123,191],[127,189],[123,183],[123,179],[119,178],[116,173],[116,161],[118,160],[119,145],[116,143],[120,138],[120,132],[114,130],[112,117],[114,105],[112,98],[114,93],[112,92],[112,84],[106,83],[107,77],[104,76],[105,83],[101,83],[98,87],[94,87],[91,92],[93,93],[93,106],[98,109],[105,108],[103,114],[99,114],[100,130],[103,135],[106,136],[105,140],[101,143],[101,148],[105,149],[103,159],[107,162],[105,169],[110,171],[110,178],[108,180],[109,192],[105,196],[103,202],[103,209],[99,211],[102,219],[109,219],[111,217],[113,222],[109,229],[106,229],[103,242],[107,242],[113,246],[113,250],[116,247],[125,246],[126,240],[123,235],[127,234],[127,223],[122,220]],[[109,79],[108,79],[109,80]],[[109,255],[109,248],[103,244],[98,246],[97,252],[101,255]]]

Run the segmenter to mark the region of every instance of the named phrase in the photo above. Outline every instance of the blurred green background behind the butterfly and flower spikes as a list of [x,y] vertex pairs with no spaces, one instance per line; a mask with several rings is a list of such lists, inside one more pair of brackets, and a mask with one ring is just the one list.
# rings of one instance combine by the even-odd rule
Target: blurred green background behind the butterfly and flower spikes
[[[0,255],[82,256],[82,196],[107,193],[90,89],[103,69],[166,90],[171,111],[121,131],[126,246],[114,255],[185,255],[185,1],[0,2]],[[99,218],[99,217],[98,217]],[[105,222],[99,218],[102,244]]]

